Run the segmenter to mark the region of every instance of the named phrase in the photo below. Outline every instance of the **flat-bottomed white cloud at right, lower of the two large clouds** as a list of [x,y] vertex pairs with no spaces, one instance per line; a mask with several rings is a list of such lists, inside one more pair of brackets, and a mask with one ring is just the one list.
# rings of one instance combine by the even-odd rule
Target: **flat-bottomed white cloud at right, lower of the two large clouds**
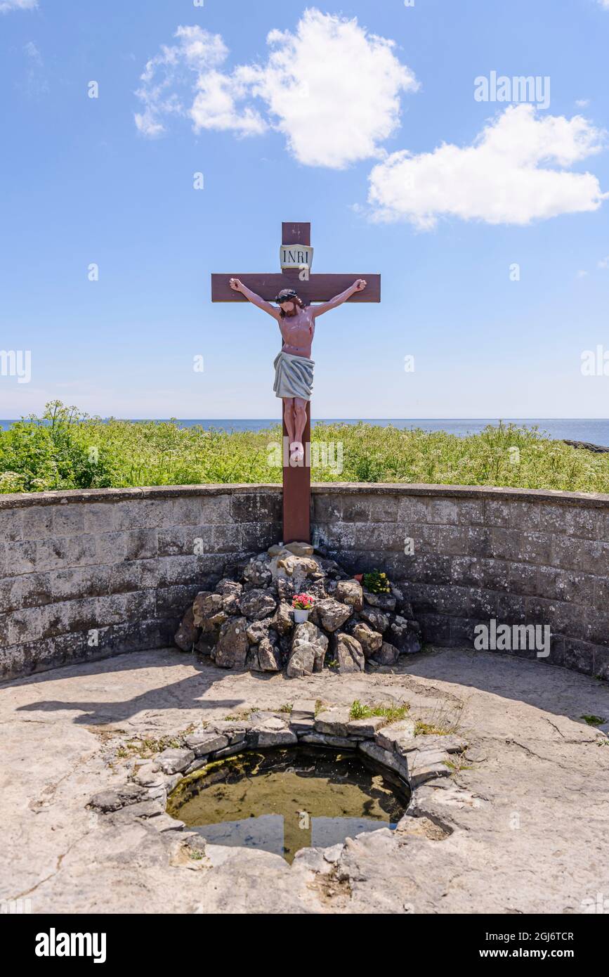
[[581,115],[540,116],[534,106],[509,106],[471,146],[389,155],[370,174],[369,203],[376,220],[410,221],[421,230],[442,216],[525,225],[596,210],[609,194],[592,174],[568,167],[603,141]]

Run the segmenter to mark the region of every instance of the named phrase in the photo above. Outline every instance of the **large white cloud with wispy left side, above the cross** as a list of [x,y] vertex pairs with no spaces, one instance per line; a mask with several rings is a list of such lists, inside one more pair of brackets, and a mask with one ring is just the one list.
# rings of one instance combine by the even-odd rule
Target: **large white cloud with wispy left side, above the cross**
[[164,133],[172,113],[189,117],[195,132],[275,129],[299,162],[340,169],[380,154],[399,125],[400,94],[419,87],[392,41],[318,10],[306,10],[294,31],[271,30],[264,64],[232,71],[222,70],[220,35],[194,26],[176,37],[142,74],[136,123],[147,136]]

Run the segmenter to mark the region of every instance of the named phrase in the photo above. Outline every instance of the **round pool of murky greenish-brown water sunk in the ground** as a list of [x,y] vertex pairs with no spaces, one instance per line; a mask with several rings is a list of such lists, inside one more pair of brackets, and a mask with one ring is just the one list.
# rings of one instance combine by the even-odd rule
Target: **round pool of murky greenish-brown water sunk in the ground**
[[240,845],[292,862],[362,831],[395,828],[407,788],[359,756],[325,750],[248,752],[212,763],[172,794],[169,814],[210,844]]

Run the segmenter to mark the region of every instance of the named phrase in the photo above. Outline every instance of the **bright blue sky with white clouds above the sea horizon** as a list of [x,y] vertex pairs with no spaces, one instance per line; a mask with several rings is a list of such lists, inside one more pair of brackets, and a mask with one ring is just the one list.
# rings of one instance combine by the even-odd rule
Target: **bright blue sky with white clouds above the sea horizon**
[[[319,320],[314,416],[609,415],[609,365],[582,373],[609,361],[609,0],[305,11],[0,0],[0,348],[31,352],[0,416],[278,417],[276,326],[210,273],[278,271],[282,220],[313,272],[383,275]],[[493,71],[549,105],[477,101]]]

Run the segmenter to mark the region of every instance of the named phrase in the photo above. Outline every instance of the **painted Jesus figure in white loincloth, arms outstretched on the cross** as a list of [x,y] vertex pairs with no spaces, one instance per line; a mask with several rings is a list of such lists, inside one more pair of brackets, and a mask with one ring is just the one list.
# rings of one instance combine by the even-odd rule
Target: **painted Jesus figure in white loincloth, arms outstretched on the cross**
[[275,308],[244,285],[239,278],[230,278],[230,287],[235,292],[241,292],[253,305],[264,309],[264,312],[279,323],[283,345],[273,363],[273,390],[275,397],[281,398],[285,405],[284,417],[290,441],[290,455],[293,457],[302,457],[304,454],[306,402],[311,399],[315,366],[310,359],[315,319],[343,305],[355,292],[363,291],[366,285],[364,278],[358,278],[340,295],[336,295],[329,302],[314,306],[305,306],[293,288],[284,288],[275,299],[278,307]]

